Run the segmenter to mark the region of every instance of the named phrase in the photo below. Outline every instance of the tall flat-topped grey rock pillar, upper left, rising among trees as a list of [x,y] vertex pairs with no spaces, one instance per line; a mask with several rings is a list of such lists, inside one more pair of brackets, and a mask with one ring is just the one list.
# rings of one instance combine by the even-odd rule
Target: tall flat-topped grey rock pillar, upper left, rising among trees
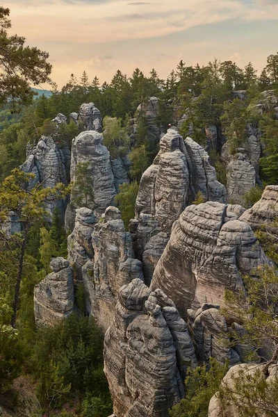
[[[88,206],[99,218],[106,208],[111,205],[116,195],[115,179],[111,167],[110,154],[103,145],[103,137],[97,131],[83,131],[72,141],[72,162],[70,177],[76,181],[76,166],[79,163],[87,163],[85,181],[92,189],[93,201],[83,201],[79,205],[71,197],[67,207],[65,218],[66,227],[70,230],[74,227],[75,210],[79,206]],[[77,186],[76,186],[77,187]],[[83,191],[80,190],[82,198]]]

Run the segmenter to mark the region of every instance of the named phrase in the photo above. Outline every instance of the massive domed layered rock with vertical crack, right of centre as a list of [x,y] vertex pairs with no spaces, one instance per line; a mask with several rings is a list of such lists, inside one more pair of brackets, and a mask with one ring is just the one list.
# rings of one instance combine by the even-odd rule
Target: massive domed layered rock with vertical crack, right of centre
[[204,303],[225,306],[224,291],[243,288],[242,276],[271,265],[239,206],[206,202],[188,206],[154,270],[151,289],[172,297],[181,317]]

